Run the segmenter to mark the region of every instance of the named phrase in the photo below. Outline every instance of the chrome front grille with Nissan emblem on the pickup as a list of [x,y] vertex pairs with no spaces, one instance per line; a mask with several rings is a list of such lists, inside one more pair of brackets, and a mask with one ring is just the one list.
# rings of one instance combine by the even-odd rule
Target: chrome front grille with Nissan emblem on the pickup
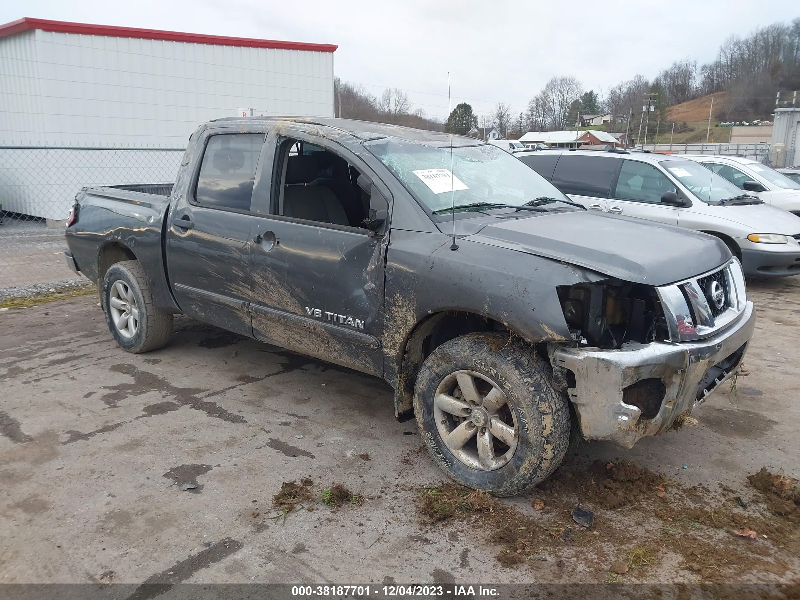
[[673,342],[714,335],[734,322],[747,302],[744,273],[736,258],[722,269],[657,290]]

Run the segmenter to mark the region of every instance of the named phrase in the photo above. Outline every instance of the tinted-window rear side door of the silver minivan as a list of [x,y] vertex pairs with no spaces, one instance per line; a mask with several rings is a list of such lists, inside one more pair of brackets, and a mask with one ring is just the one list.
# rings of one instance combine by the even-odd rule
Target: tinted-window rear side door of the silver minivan
[[619,158],[598,153],[562,154],[553,172],[553,185],[589,210],[606,210],[606,201]]

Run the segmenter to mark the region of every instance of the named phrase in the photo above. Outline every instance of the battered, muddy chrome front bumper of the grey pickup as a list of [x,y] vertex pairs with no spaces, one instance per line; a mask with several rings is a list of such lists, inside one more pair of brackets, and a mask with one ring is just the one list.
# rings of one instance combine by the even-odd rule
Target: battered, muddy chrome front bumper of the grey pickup
[[583,437],[630,449],[639,438],[668,430],[734,374],[754,323],[748,301],[738,319],[709,338],[630,343],[620,350],[552,345],[550,358],[554,370],[574,374],[567,393]]

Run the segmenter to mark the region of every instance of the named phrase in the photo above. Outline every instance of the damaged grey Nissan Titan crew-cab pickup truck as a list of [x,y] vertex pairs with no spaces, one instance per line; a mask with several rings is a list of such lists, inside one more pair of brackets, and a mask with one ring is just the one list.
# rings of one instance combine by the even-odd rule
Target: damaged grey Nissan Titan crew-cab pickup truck
[[438,465],[496,495],[546,478],[573,423],[625,448],[662,434],[754,326],[717,238],[586,211],[480,140],[375,123],[206,123],[171,191],[85,188],[66,240],[124,350],[187,314],[382,377]]

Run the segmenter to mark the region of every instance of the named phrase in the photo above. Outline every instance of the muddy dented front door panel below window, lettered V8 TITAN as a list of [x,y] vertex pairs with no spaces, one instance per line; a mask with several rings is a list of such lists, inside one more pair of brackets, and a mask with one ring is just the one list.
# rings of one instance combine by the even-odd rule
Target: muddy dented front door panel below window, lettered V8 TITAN
[[254,218],[251,237],[254,336],[381,374],[382,238],[286,217]]

